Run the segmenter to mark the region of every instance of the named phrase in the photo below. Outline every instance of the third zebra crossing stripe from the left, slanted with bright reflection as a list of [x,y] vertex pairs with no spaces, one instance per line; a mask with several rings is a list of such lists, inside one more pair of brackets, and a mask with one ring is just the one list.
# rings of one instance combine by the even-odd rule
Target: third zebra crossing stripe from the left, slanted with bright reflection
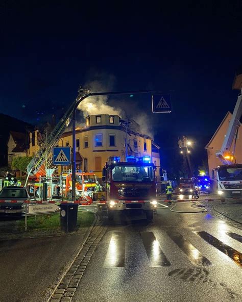
[[180,249],[186,254],[188,259],[196,265],[211,265],[211,262],[204,257],[200,251],[193,246],[186,238],[177,232],[166,232],[167,235],[180,247]]

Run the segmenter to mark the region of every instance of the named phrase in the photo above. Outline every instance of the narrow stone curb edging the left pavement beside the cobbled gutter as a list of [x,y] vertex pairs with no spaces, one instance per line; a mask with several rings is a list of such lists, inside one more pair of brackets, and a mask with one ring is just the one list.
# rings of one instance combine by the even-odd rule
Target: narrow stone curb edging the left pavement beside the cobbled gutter
[[[93,211],[91,211],[91,212],[94,213]],[[95,218],[94,218],[94,220],[93,220],[90,228],[87,230],[86,234],[84,235],[84,238],[83,238],[82,243],[81,243],[81,247],[78,249],[77,254],[73,258],[73,260],[71,261],[71,263],[69,263],[68,266],[65,268],[64,272],[61,272],[60,280],[58,281],[57,284],[55,284],[55,287],[54,288],[50,288],[49,287],[48,289],[51,289],[51,292],[47,292],[47,290],[48,290],[47,289],[46,292],[44,292],[44,294],[46,294],[46,296],[44,296],[44,294],[43,294],[42,297],[41,297],[41,300],[44,299],[44,301],[49,302],[52,299],[52,296],[53,296],[54,292],[58,289],[58,287],[61,284],[62,280],[64,279],[66,273],[69,271],[69,269],[71,268],[71,266],[74,264],[74,262],[78,258],[79,254],[81,253],[81,251],[83,249],[84,244],[86,243],[86,241],[87,241],[87,239],[88,239],[88,237],[89,237],[89,235],[90,235],[90,233],[91,233],[91,231],[93,229],[93,226],[95,225],[95,223],[96,223],[96,221],[98,219],[98,216],[96,215],[96,213],[94,213],[94,216],[95,216]]]

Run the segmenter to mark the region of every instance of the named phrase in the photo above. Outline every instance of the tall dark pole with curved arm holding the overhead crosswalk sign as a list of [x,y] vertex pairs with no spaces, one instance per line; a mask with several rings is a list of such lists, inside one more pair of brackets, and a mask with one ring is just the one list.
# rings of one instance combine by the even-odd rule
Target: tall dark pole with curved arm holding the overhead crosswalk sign
[[[91,93],[88,89],[83,89],[82,86],[80,86],[78,90],[78,98],[77,103],[74,107],[73,113],[72,113],[72,162],[71,162],[71,199],[72,202],[75,202],[76,200],[76,111],[79,106],[79,104],[84,100],[85,98],[89,96],[98,96],[98,95],[124,95],[124,94],[142,94],[142,93],[161,93],[160,91],[148,91],[148,90],[139,90],[139,91],[115,91],[115,92],[94,92]],[[127,143],[127,142],[126,142]]]

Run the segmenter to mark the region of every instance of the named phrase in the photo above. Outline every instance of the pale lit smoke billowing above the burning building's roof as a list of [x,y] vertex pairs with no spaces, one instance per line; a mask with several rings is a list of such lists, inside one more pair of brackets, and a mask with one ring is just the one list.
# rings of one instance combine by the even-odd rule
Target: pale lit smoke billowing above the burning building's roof
[[[103,73],[96,73],[94,75],[97,80],[85,84],[91,92],[110,92],[113,89],[115,78],[113,75],[106,75]],[[95,114],[109,114],[122,116],[122,110],[114,108],[108,103],[108,95],[90,96],[85,98],[78,109],[83,112],[83,117]]]

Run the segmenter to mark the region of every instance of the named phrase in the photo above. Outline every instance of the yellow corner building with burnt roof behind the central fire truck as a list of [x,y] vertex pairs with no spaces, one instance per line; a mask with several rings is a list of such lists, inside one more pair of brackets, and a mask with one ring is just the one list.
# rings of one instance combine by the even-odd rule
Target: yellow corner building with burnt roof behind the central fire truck
[[[59,146],[62,145],[72,147],[71,131],[63,133],[59,141]],[[126,153],[135,157],[150,156],[160,166],[159,147],[152,138],[133,131],[130,124],[129,127],[125,122],[122,124],[118,115],[90,115],[86,117],[86,126],[76,129],[77,169],[92,170],[101,178],[109,157],[117,156],[125,161]]]

